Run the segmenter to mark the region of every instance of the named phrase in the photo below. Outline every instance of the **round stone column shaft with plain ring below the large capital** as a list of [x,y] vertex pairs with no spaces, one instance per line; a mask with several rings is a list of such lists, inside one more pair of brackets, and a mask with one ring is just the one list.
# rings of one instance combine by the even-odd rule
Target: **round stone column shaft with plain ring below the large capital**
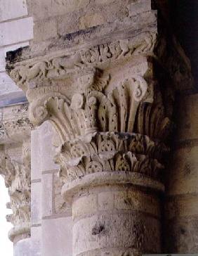
[[74,192],[74,256],[161,251],[159,199],[152,189],[133,186],[138,179],[140,184],[138,175],[104,172],[63,187],[65,199]]

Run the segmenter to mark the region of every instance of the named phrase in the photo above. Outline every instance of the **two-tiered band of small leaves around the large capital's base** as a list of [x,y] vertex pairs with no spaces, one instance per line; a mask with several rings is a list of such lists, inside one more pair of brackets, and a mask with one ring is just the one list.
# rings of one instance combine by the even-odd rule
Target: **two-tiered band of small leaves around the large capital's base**
[[97,133],[90,142],[65,142],[55,161],[62,166],[65,181],[94,172],[139,172],[159,177],[159,163],[168,148],[147,136],[126,133]]

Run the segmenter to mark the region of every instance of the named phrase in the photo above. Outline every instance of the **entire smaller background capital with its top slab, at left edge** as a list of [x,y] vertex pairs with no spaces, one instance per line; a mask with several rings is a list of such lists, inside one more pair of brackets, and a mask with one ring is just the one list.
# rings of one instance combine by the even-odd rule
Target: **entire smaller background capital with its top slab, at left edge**
[[[7,216],[8,222],[13,224],[8,236],[17,243],[30,236],[31,124],[27,105],[4,108],[1,127],[1,143],[4,143],[1,145],[1,175],[11,198],[7,207],[13,210],[13,214]],[[20,250],[20,245],[15,246]]]

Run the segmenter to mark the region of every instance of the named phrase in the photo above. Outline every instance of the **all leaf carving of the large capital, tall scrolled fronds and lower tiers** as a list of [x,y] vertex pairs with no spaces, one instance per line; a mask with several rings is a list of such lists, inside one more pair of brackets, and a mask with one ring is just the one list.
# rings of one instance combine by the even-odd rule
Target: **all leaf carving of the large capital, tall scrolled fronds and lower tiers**
[[62,178],[116,170],[157,179],[166,147],[155,140],[165,138],[171,122],[162,99],[153,103],[154,83],[131,75],[107,93],[108,76],[100,81],[86,75],[79,82],[81,93],[71,99],[45,94],[29,107],[34,124],[50,120],[60,135],[56,162]]

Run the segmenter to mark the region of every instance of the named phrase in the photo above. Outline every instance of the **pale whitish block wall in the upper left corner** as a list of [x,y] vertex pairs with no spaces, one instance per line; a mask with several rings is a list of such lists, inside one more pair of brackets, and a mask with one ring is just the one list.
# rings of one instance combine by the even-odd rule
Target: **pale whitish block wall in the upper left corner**
[[26,0],[0,0],[0,100],[20,91],[5,72],[6,52],[28,46],[32,38],[33,19]]

